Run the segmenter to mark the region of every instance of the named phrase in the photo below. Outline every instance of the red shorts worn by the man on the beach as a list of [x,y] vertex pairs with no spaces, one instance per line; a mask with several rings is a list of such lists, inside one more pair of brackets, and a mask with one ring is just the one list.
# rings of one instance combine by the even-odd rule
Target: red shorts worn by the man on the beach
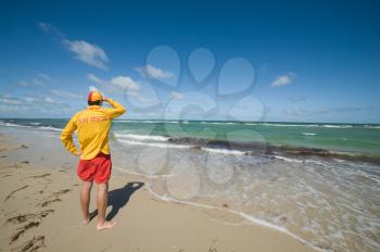
[[77,174],[84,181],[107,182],[111,177],[111,155],[99,153],[92,160],[79,160]]

